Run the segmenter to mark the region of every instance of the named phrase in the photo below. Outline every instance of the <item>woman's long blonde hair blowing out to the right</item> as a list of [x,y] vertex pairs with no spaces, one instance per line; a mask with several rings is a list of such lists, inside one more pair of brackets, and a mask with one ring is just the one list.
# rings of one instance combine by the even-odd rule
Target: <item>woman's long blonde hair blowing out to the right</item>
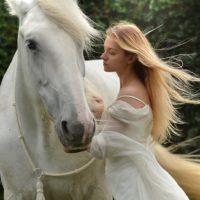
[[151,102],[152,136],[155,141],[163,142],[169,133],[177,133],[175,124],[181,123],[175,106],[200,103],[191,89],[191,83],[200,82],[200,79],[160,59],[145,34],[135,24],[114,24],[107,29],[107,35],[114,37],[123,50],[137,56],[134,68],[143,79]]

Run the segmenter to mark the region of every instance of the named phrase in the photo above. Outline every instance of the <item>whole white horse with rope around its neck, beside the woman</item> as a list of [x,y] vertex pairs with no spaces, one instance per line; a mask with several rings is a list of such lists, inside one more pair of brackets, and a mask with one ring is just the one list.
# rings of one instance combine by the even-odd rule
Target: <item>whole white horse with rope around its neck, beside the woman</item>
[[103,72],[101,61],[85,68],[83,48],[96,36],[95,29],[75,0],[7,3],[19,18],[19,33],[0,88],[4,199],[111,200],[104,163],[81,151],[95,129],[84,78],[105,104],[119,87],[113,75]]

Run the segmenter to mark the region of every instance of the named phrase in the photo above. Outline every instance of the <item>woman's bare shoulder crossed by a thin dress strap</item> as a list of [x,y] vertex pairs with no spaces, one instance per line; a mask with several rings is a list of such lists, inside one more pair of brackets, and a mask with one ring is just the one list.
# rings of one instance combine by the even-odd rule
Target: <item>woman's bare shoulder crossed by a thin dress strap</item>
[[127,102],[134,108],[142,108],[145,106],[145,104],[150,105],[148,93],[144,86],[129,86],[123,88],[119,91],[118,97],[120,97],[120,100]]

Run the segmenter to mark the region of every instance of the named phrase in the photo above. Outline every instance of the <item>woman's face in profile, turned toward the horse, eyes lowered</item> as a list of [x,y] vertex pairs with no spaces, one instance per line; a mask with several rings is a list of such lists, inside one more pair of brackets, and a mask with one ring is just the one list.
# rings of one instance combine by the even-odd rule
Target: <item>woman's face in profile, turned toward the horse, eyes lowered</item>
[[121,49],[111,36],[106,37],[104,41],[104,52],[101,55],[106,72],[122,73],[130,63],[130,56],[133,55]]

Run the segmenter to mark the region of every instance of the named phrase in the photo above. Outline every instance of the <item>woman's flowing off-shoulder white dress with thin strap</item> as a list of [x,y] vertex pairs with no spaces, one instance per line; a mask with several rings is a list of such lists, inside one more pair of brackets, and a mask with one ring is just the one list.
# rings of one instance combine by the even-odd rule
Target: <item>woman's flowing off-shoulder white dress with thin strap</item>
[[108,113],[107,124],[94,136],[90,153],[105,159],[114,199],[189,200],[153,154],[150,107],[145,104],[136,109],[118,98],[109,106]]

